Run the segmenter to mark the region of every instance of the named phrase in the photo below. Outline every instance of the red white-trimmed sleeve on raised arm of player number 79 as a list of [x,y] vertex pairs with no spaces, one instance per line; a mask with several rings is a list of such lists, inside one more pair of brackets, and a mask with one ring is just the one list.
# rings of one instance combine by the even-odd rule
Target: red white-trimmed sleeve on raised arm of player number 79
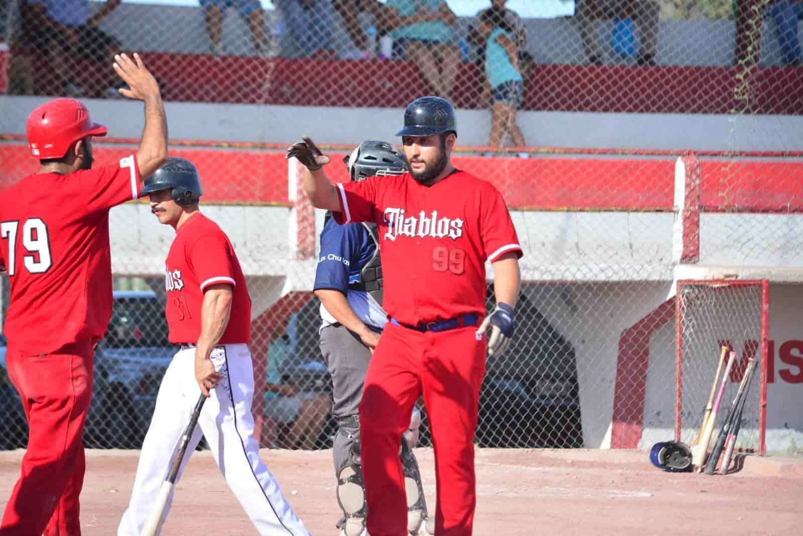
[[90,212],[102,211],[136,199],[140,195],[140,168],[133,154],[115,166],[79,171],[76,181]]

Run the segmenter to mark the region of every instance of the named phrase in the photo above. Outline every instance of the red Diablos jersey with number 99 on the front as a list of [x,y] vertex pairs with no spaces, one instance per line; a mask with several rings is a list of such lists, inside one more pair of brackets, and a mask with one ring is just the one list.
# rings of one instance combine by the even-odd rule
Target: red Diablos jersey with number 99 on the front
[[338,223],[379,227],[388,314],[404,324],[485,315],[485,261],[521,256],[502,195],[465,171],[434,186],[410,174],[338,185]]

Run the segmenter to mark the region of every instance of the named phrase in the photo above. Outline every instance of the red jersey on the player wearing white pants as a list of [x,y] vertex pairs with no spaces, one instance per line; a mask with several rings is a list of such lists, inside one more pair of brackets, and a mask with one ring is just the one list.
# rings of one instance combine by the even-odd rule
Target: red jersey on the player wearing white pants
[[218,344],[246,343],[251,338],[251,297],[234,247],[217,223],[200,212],[178,228],[165,263],[169,340],[176,344],[198,342],[201,305],[211,284],[234,287],[231,315]]

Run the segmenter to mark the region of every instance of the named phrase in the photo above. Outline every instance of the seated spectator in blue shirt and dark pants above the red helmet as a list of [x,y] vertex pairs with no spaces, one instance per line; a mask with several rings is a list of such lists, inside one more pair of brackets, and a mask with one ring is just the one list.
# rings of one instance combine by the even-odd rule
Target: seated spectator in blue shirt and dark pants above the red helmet
[[121,0],[108,0],[90,14],[89,0],[26,0],[22,10],[22,47],[47,57],[56,78],[55,91],[63,96],[84,96],[73,80],[72,58],[104,61],[118,51],[120,43],[100,30],[100,22],[120,6]]

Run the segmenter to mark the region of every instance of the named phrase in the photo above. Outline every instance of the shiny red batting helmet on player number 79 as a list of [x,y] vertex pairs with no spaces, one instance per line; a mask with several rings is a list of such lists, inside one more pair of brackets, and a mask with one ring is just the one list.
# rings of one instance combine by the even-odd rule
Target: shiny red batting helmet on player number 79
[[75,99],[54,99],[40,104],[25,126],[31,154],[40,160],[62,158],[75,141],[105,136],[108,129],[93,123],[84,104]]

